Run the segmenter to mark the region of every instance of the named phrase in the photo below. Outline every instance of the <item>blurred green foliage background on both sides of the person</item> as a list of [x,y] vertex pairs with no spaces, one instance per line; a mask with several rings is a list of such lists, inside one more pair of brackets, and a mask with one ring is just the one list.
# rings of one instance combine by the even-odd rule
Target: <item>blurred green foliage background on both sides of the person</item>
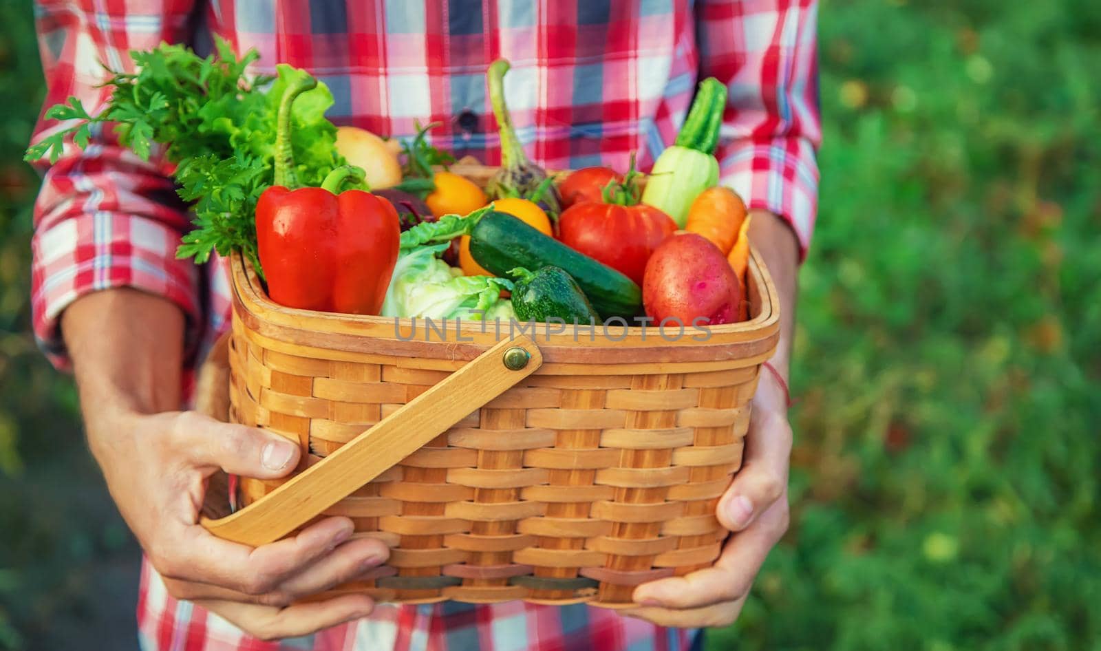
[[[21,648],[85,621],[74,577],[133,546],[109,510],[56,514],[64,482],[101,484],[26,332],[41,72],[29,8],[0,22],[0,648]],[[793,522],[709,645],[1101,649],[1101,3],[825,0],[820,33]]]

